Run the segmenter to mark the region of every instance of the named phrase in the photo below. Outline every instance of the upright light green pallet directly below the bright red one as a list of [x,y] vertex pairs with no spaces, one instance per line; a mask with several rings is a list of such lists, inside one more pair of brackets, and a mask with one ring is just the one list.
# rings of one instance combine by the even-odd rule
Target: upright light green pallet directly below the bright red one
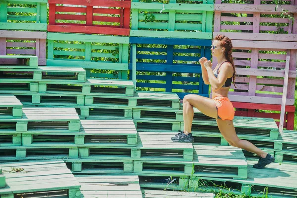
[[119,79],[128,78],[129,37],[49,32],[47,39],[49,66],[83,67],[87,77],[100,78],[114,75],[99,75],[91,70],[112,70],[119,72]]

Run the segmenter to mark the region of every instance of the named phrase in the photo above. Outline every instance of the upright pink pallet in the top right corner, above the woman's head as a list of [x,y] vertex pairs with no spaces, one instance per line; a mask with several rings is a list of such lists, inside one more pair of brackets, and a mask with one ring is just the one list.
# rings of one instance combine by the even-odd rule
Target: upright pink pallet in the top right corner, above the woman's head
[[[283,0],[285,5],[276,11],[271,0],[252,1],[253,4],[236,4],[216,0],[213,35],[224,34],[238,40],[297,41],[297,0]],[[281,16],[282,8],[294,14],[293,24]]]

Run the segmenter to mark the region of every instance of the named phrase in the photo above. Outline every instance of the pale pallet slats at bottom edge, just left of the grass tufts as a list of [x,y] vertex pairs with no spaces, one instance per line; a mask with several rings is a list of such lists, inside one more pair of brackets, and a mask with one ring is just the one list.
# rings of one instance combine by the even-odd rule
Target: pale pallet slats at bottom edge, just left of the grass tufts
[[214,198],[213,193],[196,193],[185,191],[161,191],[161,190],[141,190],[143,198]]

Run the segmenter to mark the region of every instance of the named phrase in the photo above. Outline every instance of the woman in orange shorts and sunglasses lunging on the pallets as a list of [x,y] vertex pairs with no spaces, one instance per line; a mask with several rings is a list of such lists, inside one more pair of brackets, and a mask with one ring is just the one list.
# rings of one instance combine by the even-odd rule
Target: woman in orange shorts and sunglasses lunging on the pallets
[[183,99],[184,131],[179,131],[171,139],[174,142],[194,142],[191,134],[194,106],[205,115],[216,119],[221,134],[230,145],[255,153],[260,157],[254,168],[264,168],[272,163],[274,158],[247,140],[240,140],[233,125],[234,108],[228,99],[229,88],[235,81],[231,39],[224,35],[217,35],[213,41],[211,52],[212,56],[218,59],[218,64],[213,71],[210,60],[203,57],[199,62],[202,67],[204,83],[211,85],[212,99],[195,94],[186,95]]

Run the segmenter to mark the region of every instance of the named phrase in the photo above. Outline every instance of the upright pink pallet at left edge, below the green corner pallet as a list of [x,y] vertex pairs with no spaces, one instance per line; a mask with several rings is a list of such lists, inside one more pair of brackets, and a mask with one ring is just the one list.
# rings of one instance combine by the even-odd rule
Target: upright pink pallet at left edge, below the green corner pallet
[[[38,65],[46,65],[46,38],[45,32],[0,30],[0,55],[35,55]],[[17,64],[17,61],[1,59],[0,64]]]

